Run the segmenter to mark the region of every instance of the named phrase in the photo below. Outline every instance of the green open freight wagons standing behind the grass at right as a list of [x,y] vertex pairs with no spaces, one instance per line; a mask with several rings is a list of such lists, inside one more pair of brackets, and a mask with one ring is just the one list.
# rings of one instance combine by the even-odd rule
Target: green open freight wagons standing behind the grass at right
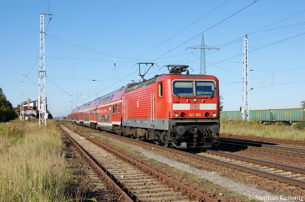
[[[228,120],[242,120],[241,111],[221,111],[221,117]],[[293,122],[304,121],[305,107],[249,110],[250,120],[257,120],[263,124],[275,124],[277,122],[291,125]]]

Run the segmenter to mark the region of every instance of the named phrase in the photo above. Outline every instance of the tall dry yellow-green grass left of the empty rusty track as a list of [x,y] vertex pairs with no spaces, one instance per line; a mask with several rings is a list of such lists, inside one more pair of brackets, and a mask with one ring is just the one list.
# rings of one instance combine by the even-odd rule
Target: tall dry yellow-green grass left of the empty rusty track
[[69,201],[77,186],[67,169],[57,122],[0,123],[0,201]]

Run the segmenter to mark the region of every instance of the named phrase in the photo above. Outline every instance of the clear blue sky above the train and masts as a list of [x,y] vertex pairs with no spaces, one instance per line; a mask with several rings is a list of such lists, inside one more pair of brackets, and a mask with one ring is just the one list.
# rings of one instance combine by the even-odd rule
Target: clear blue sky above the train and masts
[[[247,7],[248,6],[248,7]],[[48,108],[53,117],[138,79],[138,62],[199,74],[202,34],[206,73],[220,81],[224,110],[242,105],[243,38],[248,36],[250,109],[300,107],[305,100],[305,2],[3,1],[0,0],[0,87],[20,103],[39,96],[40,14],[45,17]],[[114,68],[114,57],[116,67]],[[133,67],[134,66],[134,67]],[[161,68],[161,69],[160,69]],[[141,71],[144,71],[142,69]],[[97,81],[91,81],[97,80]]]

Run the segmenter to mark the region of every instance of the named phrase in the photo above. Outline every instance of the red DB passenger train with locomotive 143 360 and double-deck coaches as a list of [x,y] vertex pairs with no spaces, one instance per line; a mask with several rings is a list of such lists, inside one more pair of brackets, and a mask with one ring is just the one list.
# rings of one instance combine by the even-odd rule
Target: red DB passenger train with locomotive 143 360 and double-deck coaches
[[[142,63],[137,64],[140,70]],[[140,72],[142,82],[130,83],[75,108],[71,122],[170,148],[218,145],[218,79],[191,75],[187,65],[164,67],[168,74],[145,80]]]

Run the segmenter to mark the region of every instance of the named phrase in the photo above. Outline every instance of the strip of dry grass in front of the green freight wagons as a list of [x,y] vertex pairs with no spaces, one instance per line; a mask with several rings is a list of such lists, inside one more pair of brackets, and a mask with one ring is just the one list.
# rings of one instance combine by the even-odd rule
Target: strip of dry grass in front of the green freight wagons
[[231,120],[230,122],[221,117],[221,129],[219,133],[248,135],[265,138],[278,138],[286,140],[305,140],[305,124],[297,123],[293,126],[281,124],[263,125],[255,120],[250,120],[249,124],[239,120]]

